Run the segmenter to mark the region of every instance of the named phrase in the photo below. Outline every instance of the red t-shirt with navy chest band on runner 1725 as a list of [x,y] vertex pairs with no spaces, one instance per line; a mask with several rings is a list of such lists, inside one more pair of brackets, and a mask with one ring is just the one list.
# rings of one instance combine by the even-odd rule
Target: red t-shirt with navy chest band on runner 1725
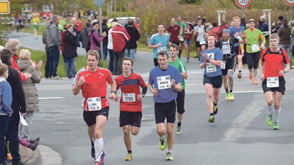
[[[122,95],[120,97],[120,110],[140,112],[142,111],[142,101],[137,99],[140,93],[140,87],[145,88],[146,83],[139,74],[131,73],[129,77],[123,77],[123,74],[115,78],[117,89],[120,88]],[[135,93],[135,102],[123,102],[123,93]]]

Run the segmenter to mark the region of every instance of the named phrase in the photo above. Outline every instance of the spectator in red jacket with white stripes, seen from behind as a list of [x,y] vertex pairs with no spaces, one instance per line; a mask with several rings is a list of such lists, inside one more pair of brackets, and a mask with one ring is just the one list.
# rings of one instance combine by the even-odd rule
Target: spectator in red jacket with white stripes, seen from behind
[[113,57],[115,75],[121,75],[123,69],[123,57],[125,57],[125,42],[131,39],[127,30],[123,27],[123,21],[118,20],[117,26],[112,29]]

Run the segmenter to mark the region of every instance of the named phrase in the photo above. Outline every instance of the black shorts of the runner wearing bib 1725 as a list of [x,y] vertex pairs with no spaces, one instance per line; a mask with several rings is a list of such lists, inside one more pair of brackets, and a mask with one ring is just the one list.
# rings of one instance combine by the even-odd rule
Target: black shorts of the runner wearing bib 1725
[[120,127],[131,125],[140,127],[142,119],[142,112],[120,111]]

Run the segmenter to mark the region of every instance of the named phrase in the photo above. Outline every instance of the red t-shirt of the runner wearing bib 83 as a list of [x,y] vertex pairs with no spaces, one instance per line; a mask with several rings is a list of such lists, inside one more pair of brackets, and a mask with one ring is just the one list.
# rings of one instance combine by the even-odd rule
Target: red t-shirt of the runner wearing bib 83
[[[80,77],[84,76],[85,83],[81,86],[82,89],[82,107],[88,111],[87,98],[90,97],[106,97],[106,82],[112,84],[114,78],[108,69],[98,67],[96,72],[91,72],[88,68],[79,72],[76,77],[76,85]],[[109,107],[109,102],[106,98],[101,98],[102,108]]]

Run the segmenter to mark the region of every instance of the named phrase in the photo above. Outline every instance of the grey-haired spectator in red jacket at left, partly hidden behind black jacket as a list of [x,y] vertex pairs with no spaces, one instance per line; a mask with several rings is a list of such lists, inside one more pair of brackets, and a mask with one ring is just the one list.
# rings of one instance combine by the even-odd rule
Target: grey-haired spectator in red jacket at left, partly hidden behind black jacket
[[22,82],[27,80],[28,78],[32,77],[30,73],[22,73],[19,71],[19,67],[17,65],[17,60],[19,60],[19,57],[17,55],[18,49],[19,49],[20,41],[16,38],[9,38],[7,43],[5,44],[5,47],[12,51],[12,59],[11,59],[11,67],[16,69],[19,72],[20,78],[22,79]]

